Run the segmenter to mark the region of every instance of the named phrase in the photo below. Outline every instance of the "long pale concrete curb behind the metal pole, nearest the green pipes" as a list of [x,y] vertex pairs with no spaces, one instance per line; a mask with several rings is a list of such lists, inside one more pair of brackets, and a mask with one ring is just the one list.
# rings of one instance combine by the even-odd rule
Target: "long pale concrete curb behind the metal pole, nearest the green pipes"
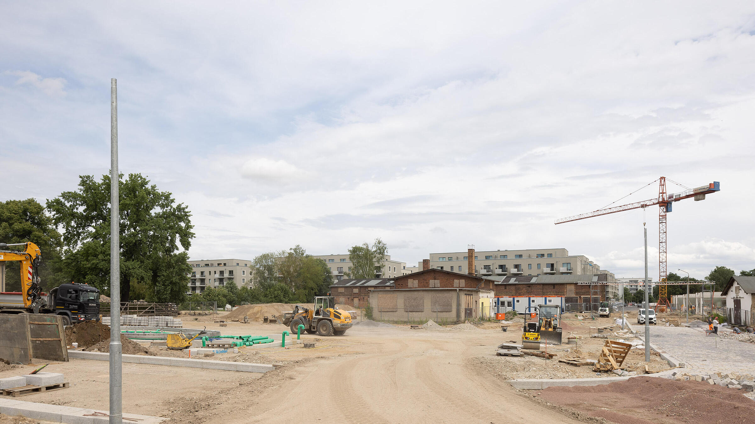
[[[108,361],[109,354],[105,352],[82,352],[69,351],[69,358],[75,359],[93,359],[95,361]],[[123,362],[137,364],[154,364],[168,365],[171,367],[190,367],[190,368],[208,368],[214,370],[243,371],[247,373],[267,373],[275,368],[267,364],[248,364],[246,362],[233,361],[209,361],[204,359],[189,358],[165,358],[163,356],[145,356],[145,355],[122,355]],[[208,365],[206,363],[217,363]]]

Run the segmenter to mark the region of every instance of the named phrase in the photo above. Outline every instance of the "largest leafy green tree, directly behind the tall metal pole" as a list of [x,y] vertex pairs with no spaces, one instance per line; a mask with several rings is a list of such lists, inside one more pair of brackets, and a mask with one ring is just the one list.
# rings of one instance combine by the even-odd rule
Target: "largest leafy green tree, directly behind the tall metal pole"
[[[191,267],[186,250],[194,237],[190,211],[141,174],[119,179],[121,299],[131,283],[146,284],[147,300],[180,302]],[[106,290],[110,264],[110,177],[80,177],[79,189],[48,200],[63,232],[63,268],[75,281]]]

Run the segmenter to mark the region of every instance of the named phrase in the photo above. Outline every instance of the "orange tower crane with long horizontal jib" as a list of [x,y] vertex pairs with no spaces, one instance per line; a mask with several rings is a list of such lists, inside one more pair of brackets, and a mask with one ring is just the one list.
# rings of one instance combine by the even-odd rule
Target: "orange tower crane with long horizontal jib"
[[[673,202],[686,198],[695,198],[695,201],[704,200],[705,195],[718,191],[720,191],[720,184],[718,181],[713,181],[713,183],[707,184],[707,186],[700,186],[696,189],[687,189],[686,191],[680,193],[667,193],[666,177],[661,177],[658,179],[658,198],[652,198],[646,201],[638,201],[636,203],[622,204],[621,206],[608,207],[606,209],[594,210],[593,212],[587,212],[587,214],[579,214],[573,217],[565,217],[561,218],[560,220],[556,220],[555,223],[556,225],[569,223],[572,221],[584,220],[585,218],[615,214],[616,212],[623,212],[624,210],[637,209],[639,207],[645,208],[654,204],[658,204],[658,282],[664,283],[666,282],[667,278],[666,214],[671,212]],[[658,284],[658,297],[659,303],[668,303],[665,284]]]

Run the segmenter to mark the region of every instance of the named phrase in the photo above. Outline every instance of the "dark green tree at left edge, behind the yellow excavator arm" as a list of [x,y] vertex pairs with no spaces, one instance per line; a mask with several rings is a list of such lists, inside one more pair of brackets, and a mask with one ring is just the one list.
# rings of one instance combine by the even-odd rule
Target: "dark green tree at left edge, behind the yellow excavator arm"
[[[42,288],[50,289],[66,282],[61,275],[60,254],[63,239],[55,229],[52,217],[45,214],[45,207],[33,198],[0,202],[0,242],[26,243],[31,241],[42,252],[39,278]],[[10,250],[20,250],[9,247]],[[6,262],[6,290],[20,290],[19,262]]]

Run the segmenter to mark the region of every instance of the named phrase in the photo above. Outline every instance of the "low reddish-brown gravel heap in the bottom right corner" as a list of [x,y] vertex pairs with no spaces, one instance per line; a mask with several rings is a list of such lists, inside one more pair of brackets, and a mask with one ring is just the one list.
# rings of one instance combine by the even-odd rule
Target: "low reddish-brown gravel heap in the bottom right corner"
[[635,377],[602,386],[549,387],[541,392],[541,398],[626,424],[750,422],[755,402],[743,393],[707,382]]

